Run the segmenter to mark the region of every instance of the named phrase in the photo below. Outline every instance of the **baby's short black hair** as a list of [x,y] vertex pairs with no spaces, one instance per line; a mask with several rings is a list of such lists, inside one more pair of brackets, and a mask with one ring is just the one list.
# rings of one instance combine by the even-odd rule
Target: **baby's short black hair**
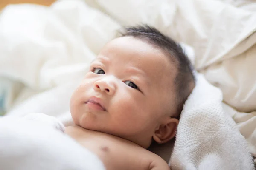
[[172,38],[162,34],[156,28],[148,25],[124,27],[120,31],[122,37],[131,36],[143,40],[156,48],[163,50],[177,68],[175,77],[177,115],[179,118],[189,94],[195,86],[192,65],[181,46]]

